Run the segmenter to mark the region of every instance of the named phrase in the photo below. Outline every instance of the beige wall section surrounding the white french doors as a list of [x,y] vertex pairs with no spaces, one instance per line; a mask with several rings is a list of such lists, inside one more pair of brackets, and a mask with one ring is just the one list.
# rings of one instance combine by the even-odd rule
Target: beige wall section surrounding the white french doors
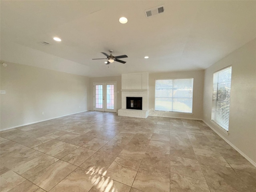
[[[91,77],[90,78],[90,110],[93,109],[93,83],[96,82],[116,82],[116,105],[117,110],[122,108],[122,94],[121,94],[121,88],[122,88],[122,76],[111,76],[111,77]],[[116,110],[116,112],[117,112]]]

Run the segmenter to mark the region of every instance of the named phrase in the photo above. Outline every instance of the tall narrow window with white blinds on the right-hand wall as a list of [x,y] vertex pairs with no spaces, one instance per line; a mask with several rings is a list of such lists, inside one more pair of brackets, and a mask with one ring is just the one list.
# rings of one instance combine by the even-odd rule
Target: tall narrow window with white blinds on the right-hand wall
[[232,67],[213,74],[212,121],[228,131]]

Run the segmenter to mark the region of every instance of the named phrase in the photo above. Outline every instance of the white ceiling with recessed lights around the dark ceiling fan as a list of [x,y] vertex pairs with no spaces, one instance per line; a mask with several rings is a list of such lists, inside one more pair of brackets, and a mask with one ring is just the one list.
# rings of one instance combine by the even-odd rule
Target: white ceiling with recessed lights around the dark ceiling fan
[[[89,77],[205,69],[256,38],[256,1],[0,3],[1,60]],[[164,13],[146,18],[160,5]],[[128,55],[126,64],[92,60],[109,49]]]

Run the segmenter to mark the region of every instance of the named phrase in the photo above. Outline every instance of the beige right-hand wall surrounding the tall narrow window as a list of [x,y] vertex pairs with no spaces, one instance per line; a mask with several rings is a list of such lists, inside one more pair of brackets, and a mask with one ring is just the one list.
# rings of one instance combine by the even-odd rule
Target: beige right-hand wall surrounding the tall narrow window
[[[213,73],[232,65],[228,135],[211,121]],[[205,70],[204,121],[256,165],[256,40]],[[252,162],[251,161],[251,162]]]

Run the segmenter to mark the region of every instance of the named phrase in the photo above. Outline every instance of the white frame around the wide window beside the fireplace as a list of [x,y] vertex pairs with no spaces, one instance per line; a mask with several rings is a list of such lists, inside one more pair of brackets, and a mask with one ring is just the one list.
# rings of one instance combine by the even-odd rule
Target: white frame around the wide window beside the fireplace
[[[168,111],[168,110],[156,110],[156,81],[157,80],[186,80],[186,79],[192,79],[192,104],[191,104],[191,112],[177,112],[177,111]],[[167,112],[167,113],[178,113],[178,114],[186,114],[186,115],[193,115],[193,98],[194,98],[194,78],[193,77],[185,77],[185,78],[161,78],[161,79],[155,79],[155,95],[154,95],[154,110],[159,112]],[[172,87],[173,90],[173,87]],[[172,97],[172,99],[175,97]],[[173,103],[173,101],[172,101]]]

